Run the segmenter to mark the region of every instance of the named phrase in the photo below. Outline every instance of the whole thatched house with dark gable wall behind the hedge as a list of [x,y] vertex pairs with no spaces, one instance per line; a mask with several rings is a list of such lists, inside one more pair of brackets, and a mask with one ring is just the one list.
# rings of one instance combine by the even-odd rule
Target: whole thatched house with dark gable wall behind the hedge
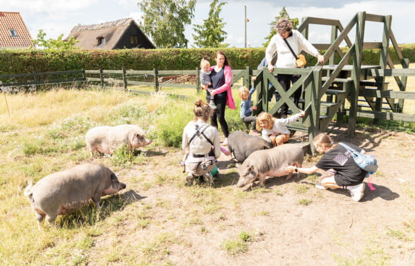
[[73,27],[65,41],[74,37],[75,47],[83,50],[113,50],[124,48],[154,49],[156,46],[145,36],[131,18]]

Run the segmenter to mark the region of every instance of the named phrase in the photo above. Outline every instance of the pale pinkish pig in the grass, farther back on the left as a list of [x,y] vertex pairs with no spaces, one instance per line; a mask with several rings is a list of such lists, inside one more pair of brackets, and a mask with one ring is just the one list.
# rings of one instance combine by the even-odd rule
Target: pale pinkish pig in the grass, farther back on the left
[[100,155],[111,154],[120,144],[126,144],[128,149],[151,144],[151,140],[147,139],[145,134],[146,131],[133,124],[97,126],[86,133],[85,142],[93,158],[94,151],[98,151]]

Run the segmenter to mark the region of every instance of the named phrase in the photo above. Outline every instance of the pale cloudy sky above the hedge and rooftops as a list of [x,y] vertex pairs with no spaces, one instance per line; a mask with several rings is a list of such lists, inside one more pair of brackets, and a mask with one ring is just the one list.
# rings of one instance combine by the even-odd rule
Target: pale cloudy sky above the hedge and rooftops
[[[236,1],[228,0],[220,17],[225,21],[224,30],[227,32],[225,42],[230,47],[245,46],[245,12],[249,22],[247,27],[248,47],[262,47],[264,38],[270,32],[270,25],[279,15],[285,5],[291,18],[322,17],[338,19],[342,26],[356,15],[356,12],[366,11],[376,15],[391,15],[391,28],[399,44],[415,43],[415,0],[398,1],[359,1],[359,0],[291,0],[291,1]],[[114,21],[126,17],[135,19],[138,23],[142,12],[138,8],[138,0],[0,0],[0,11],[20,12],[33,39],[36,39],[40,29],[46,32],[46,39],[56,39],[62,33],[64,38],[71,29],[77,26]],[[193,24],[202,24],[208,17],[210,0],[198,0],[194,10]],[[193,26],[185,28],[185,36],[189,40],[188,47],[194,42]],[[314,44],[328,44],[330,41],[330,26],[310,26],[308,40]],[[354,39],[354,32],[349,37]],[[382,23],[367,22],[365,41],[382,41]]]

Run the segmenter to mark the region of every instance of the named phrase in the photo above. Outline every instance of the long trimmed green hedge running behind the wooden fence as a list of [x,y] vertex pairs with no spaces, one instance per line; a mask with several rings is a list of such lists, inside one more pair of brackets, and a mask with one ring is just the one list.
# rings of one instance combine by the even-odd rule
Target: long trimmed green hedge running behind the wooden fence
[[[415,61],[415,44],[400,46],[405,58]],[[216,48],[192,49],[124,49],[124,50],[0,50],[0,74],[50,72],[79,69],[133,69],[133,70],[185,70],[199,66],[205,57],[214,64]],[[264,57],[264,48],[223,48],[233,69],[246,66],[257,68]],[[347,50],[343,48],[343,50]],[[391,58],[398,58],[391,48]],[[315,64],[310,57],[308,65]],[[364,64],[378,64],[379,50],[365,50]]]

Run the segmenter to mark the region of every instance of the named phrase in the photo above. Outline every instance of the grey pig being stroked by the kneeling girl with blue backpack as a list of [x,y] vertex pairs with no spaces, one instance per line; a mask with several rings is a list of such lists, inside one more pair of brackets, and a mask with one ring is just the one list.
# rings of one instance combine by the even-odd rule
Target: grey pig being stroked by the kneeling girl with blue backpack
[[[266,176],[279,177],[286,175],[284,170],[288,165],[301,167],[304,160],[304,151],[299,144],[282,144],[273,149],[254,151],[239,167],[239,181],[237,187],[259,179],[263,186]],[[288,173],[286,180],[293,173]]]

